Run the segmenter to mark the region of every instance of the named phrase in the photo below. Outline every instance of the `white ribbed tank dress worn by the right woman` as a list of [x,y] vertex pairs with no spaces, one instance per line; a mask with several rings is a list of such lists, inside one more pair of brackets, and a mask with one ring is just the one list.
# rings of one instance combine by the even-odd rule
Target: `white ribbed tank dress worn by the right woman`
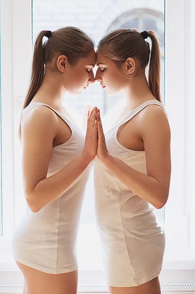
[[[145,151],[122,146],[117,131],[151,104],[164,109],[157,100],[146,101],[105,134],[109,153],[143,174],[147,174]],[[157,277],[163,263],[165,235],[152,205],[133,194],[97,157],[94,186],[97,229],[108,285],[133,287]]]

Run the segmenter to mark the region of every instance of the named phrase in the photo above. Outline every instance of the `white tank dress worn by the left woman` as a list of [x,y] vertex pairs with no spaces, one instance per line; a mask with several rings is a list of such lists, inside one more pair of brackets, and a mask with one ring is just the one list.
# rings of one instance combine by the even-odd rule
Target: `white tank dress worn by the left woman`
[[[85,135],[62,114],[41,102],[27,106],[22,119],[31,109],[43,105],[53,110],[68,124],[70,139],[52,148],[47,177],[59,172],[84,148]],[[33,269],[58,274],[78,269],[76,243],[81,209],[91,164],[64,193],[33,213],[26,214],[15,229],[12,251],[16,261]]]

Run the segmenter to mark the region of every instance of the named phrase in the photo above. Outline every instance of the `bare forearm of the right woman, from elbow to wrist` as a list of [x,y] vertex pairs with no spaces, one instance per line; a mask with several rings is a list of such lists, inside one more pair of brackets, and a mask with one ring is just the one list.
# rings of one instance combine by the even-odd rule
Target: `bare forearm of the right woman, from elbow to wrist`
[[164,206],[167,200],[166,193],[155,178],[135,171],[112,155],[108,155],[102,162],[134,194],[150,202],[156,208]]

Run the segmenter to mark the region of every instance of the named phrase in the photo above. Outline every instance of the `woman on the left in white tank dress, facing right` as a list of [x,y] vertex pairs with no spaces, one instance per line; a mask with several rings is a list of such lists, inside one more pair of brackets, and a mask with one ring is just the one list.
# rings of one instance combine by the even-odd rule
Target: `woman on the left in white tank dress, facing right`
[[[43,37],[48,39],[43,44]],[[27,212],[13,236],[25,294],[76,294],[76,241],[81,207],[97,151],[97,108],[86,139],[63,107],[64,94],[94,82],[93,41],[76,27],[41,31],[21,121]]]

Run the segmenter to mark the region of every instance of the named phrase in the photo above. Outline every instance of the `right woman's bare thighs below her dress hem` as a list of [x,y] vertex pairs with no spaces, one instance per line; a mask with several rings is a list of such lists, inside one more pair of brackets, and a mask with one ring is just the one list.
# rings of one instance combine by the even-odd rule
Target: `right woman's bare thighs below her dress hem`
[[161,294],[158,277],[137,287],[110,287],[111,294]]

